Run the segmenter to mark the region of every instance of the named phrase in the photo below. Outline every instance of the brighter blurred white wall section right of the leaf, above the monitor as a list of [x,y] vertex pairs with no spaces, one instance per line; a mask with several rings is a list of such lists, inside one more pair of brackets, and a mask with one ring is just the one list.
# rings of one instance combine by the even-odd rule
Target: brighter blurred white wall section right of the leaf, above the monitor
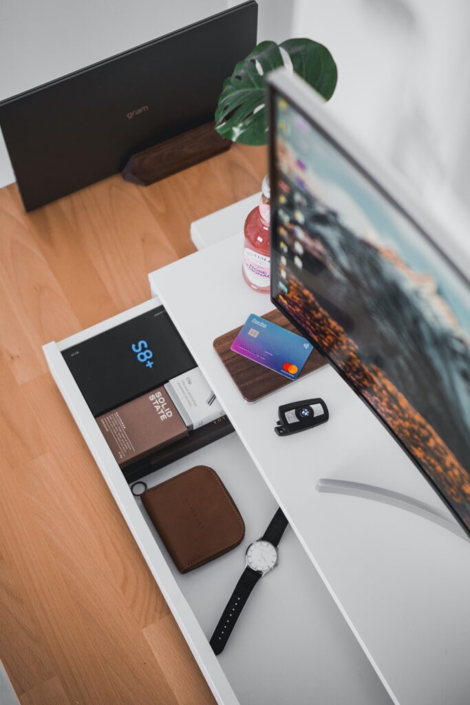
[[292,23],[338,63],[328,109],[466,238],[469,31],[467,0],[297,0]]

